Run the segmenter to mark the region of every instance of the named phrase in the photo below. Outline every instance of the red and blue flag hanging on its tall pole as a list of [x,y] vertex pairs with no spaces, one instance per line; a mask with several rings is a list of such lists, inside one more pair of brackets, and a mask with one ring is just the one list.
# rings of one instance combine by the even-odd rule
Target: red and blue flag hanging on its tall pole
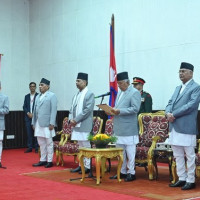
[[114,15],[112,15],[111,25],[110,25],[110,67],[109,67],[109,80],[110,80],[110,92],[111,92],[109,105],[111,107],[115,106],[115,100],[116,100],[117,92],[118,92],[114,44],[115,44],[114,43]]

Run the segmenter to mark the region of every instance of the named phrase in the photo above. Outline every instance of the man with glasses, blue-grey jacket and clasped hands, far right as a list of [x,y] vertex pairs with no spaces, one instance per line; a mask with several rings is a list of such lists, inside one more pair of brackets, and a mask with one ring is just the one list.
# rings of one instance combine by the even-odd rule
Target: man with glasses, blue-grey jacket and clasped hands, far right
[[173,155],[176,158],[179,177],[176,183],[169,186],[181,187],[182,190],[195,188],[195,146],[198,134],[197,113],[200,85],[192,79],[193,70],[193,65],[181,63],[179,77],[182,85],[176,87],[165,109],[169,120],[169,144],[172,145]]

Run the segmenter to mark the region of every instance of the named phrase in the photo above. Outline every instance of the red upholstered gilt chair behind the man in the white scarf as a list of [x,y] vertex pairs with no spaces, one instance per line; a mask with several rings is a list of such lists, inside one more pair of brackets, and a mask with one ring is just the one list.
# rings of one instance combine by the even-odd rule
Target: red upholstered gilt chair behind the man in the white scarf
[[[100,117],[93,118],[93,134],[101,133],[103,120]],[[72,132],[72,129],[70,129]],[[61,160],[61,166],[64,165],[63,155],[74,156],[74,161],[76,162],[77,155],[79,153],[79,145],[77,141],[71,140],[71,132],[70,134],[65,134],[65,138],[63,143],[59,146],[59,156]]]

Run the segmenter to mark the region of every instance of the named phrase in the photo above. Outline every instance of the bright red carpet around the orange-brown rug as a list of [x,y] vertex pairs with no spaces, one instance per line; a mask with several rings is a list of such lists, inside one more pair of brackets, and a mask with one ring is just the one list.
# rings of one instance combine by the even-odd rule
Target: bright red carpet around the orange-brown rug
[[[0,200],[141,200],[124,194],[92,189],[82,185],[75,185],[54,180],[38,179],[24,176],[24,173],[51,172],[64,170],[66,167],[34,168],[32,164],[38,162],[38,155],[24,153],[24,149],[4,150],[2,164],[7,169],[0,168]],[[75,167],[72,157],[65,157],[65,166]]]

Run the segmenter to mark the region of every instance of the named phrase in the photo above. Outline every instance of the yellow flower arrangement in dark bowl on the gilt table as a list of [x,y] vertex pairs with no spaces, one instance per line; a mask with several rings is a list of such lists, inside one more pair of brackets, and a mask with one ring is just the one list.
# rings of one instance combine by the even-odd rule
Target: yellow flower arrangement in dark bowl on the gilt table
[[93,142],[97,148],[105,148],[109,142],[116,142],[117,137],[99,133],[94,136],[90,134],[88,136],[88,140]]

